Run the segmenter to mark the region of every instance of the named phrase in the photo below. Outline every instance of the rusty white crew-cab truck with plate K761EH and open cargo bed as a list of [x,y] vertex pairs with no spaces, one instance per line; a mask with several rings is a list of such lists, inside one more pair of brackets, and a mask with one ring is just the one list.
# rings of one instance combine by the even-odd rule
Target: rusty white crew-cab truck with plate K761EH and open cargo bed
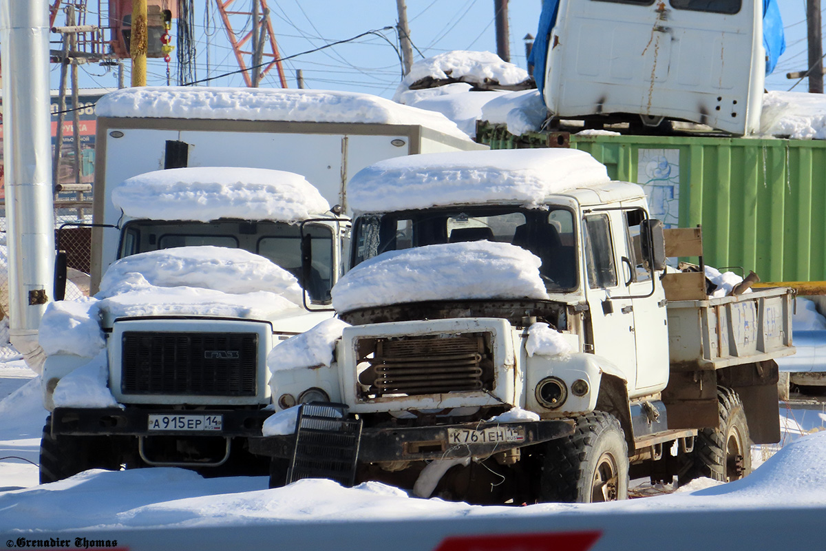
[[[273,486],[338,473],[477,503],[605,501],[629,477],[743,477],[751,443],[779,440],[790,290],[712,298],[703,273],[666,274],[642,188],[590,155],[388,159],[349,195],[340,320],[270,356],[278,413],[250,449]],[[695,230],[670,236],[669,254],[701,255]],[[297,416],[309,389],[340,406]]]

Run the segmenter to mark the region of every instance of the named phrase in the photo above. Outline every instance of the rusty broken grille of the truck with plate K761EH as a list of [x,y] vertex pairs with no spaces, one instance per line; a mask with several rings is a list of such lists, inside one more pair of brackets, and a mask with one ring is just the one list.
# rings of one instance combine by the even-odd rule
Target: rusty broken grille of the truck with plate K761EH
[[490,335],[426,336],[368,340],[359,348],[359,382],[368,397],[415,396],[442,392],[490,389],[492,361]]

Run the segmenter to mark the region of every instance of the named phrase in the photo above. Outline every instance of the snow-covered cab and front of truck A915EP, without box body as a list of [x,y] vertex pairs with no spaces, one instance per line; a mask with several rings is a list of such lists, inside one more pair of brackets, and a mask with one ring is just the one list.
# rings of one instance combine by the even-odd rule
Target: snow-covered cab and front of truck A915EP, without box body
[[123,463],[254,472],[244,437],[268,416],[267,354],[332,316],[349,220],[271,169],[159,170],[112,200],[119,260],[40,325],[41,482]]

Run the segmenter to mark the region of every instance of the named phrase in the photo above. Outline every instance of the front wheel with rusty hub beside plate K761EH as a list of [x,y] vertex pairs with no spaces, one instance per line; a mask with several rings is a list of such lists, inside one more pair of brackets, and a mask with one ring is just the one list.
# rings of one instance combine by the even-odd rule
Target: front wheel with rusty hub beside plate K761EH
[[540,501],[596,503],[628,497],[628,444],[614,416],[576,418],[573,435],[546,444]]

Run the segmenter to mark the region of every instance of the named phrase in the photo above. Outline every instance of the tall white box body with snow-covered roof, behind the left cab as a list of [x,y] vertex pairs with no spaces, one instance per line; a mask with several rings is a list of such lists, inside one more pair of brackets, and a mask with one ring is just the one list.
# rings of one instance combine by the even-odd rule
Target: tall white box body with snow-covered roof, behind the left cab
[[[183,167],[276,169],[304,176],[349,214],[346,183],[396,156],[487,149],[440,113],[363,93],[268,88],[145,87],[95,106],[93,222],[122,226],[112,190],[141,173]],[[184,213],[180,213],[184,216]],[[152,216],[147,216],[152,218]],[[92,292],[123,235],[93,228]]]

